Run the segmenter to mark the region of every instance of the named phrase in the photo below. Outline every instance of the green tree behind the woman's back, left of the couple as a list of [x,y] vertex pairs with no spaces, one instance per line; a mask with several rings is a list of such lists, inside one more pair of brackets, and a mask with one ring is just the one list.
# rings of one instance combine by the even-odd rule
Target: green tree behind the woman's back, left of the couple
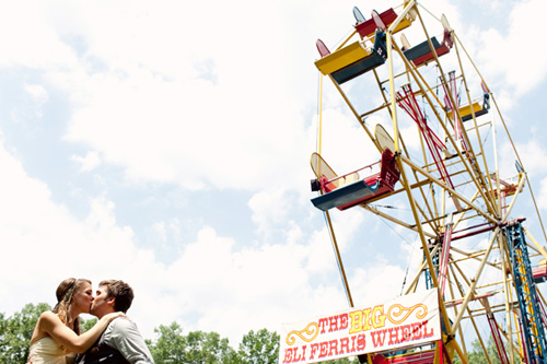
[[0,314],[0,363],[25,364],[31,350],[31,337],[42,313],[51,309],[48,304],[27,304],[12,317]]

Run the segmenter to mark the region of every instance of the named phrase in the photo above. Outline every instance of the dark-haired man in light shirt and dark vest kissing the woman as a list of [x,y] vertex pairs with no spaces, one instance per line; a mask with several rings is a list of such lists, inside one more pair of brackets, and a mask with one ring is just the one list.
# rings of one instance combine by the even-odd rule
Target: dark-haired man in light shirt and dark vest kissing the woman
[[[133,301],[133,290],[124,281],[108,280],[98,284],[91,304],[91,315],[98,319],[106,314],[127,313]],[[127,317],[114,319],[85,353],[78,354],[75,364],[153,364],[154,360],[137,325]]]

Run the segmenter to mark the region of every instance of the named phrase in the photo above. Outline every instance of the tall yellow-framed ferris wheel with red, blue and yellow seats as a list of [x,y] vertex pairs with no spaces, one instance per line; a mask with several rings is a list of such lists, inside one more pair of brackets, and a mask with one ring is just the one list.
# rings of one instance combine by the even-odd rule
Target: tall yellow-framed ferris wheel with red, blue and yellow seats
[[[361,361],[451,363],[457,356],[467,363],[467,326],[487,356],[491,336],[501,363],[547,363],[546,301],[537,289],[547,279],[547,250],[524,218],[510,218],[521,196],[535,199],[496,93],[445,15],[417,1],[382,12],[354,8],[353,15],[351,34],[338,46],[317,40],[315,66],[322,89],[323,78],[331,82],[377,154],[362,168],[335,172],[321,150],[321,122],[327,120],[319,107],[312,203],[326,216],[350,306],[330,213],[363,209],[416,234],[422,256],[404,294],[437,289],[443,330],[426,349],[370,353]],[[376,92],[370,102],[356,95],[363,84]],[[501,139],[512,145],[511,155],[499,155]],[[508,157],[514,174],[501,176],[500,160]],[[403,203],[409,213],[384,210],[380,201]],[[526,218],[544,232],[534,207]]]

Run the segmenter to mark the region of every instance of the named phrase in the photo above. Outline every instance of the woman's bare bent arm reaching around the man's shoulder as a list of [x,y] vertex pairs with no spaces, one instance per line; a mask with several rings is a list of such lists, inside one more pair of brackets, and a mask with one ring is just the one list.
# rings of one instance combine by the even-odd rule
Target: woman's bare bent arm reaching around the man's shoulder
[[60,318],[51,312],[42,314],[39,319],[42,321],[43,331],[47,332],[55,341],[62,344],[65,349],[73,353],[83,353],[97,341],[108,324],[120,316],[124,316],[124,314],[114,313],[105,315],[90,330],[80,336],[62,324]]

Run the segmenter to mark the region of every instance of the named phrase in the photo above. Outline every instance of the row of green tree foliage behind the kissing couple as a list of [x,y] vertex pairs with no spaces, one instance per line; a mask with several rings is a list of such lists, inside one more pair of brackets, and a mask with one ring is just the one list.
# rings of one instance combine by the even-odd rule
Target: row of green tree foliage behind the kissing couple
[[[31,337],[36,322],[48,304],[27,304],[20,313],[5,317],[0,313],[0,364],[25,364],[31,348]],[[96,318],[82,320],[82,330],[89,330]],[[279,361],[279,334],[261,329],[246,333],[235,351],[229,340],[217,332],[190,331],[173,322],[160,325],[154,330],[155,340],[146,340],[156,364],[277,364]],[[327,364],[356,364],[357,359],[342,359]]]

